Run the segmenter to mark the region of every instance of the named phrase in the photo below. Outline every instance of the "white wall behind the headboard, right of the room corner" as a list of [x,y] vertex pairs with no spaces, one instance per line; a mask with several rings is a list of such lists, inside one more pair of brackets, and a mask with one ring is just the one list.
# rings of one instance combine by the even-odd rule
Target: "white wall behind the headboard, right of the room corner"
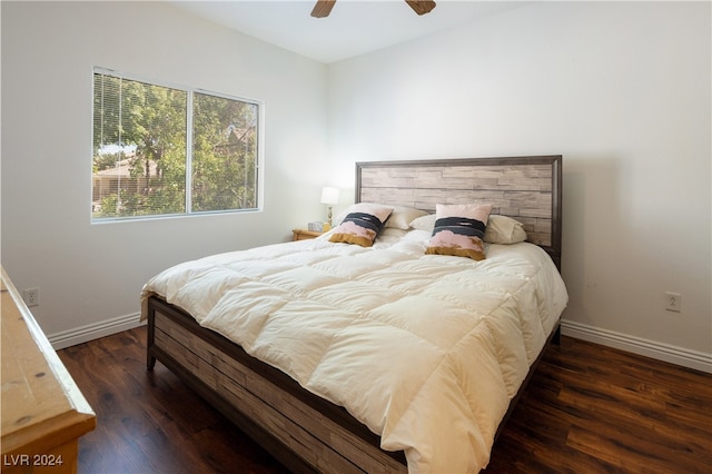
[[333,65],[340,186],[355,160],[562,154],[567,332],[712,372],[710,22],[533,2]]

